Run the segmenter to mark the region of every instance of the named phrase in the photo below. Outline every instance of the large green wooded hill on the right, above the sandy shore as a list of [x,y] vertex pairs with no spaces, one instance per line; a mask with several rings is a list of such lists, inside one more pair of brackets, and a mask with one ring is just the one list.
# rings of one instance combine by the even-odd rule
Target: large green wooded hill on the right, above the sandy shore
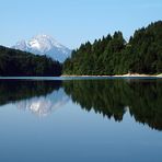
[[65,74],[113,76],[162,72],[162,21],[135,32],[129,42],[115,32],[85,43],[63,63]]

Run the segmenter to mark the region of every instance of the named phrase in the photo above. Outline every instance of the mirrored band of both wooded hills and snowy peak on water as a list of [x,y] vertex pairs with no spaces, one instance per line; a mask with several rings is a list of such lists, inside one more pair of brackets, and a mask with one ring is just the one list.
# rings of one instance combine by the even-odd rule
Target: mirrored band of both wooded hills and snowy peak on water
[[12,103],[38,116],[65,106],[70,99],[116,121],[129,112],[136,121],[162,130],[161,80],[0,80],[0,105]]

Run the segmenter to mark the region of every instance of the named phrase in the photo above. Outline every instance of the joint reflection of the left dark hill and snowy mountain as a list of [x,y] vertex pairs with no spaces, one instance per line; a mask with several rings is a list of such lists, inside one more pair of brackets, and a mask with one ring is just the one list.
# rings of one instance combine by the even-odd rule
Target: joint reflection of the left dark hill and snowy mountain
[[19,109],[46,116],[69,100],[60,86],[61,81],[0,81],[0,105],[13,103]]

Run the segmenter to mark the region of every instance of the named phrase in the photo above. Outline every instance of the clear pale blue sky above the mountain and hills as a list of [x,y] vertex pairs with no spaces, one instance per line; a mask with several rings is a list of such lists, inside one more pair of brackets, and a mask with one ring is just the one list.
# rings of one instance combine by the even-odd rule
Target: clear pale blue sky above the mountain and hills
[[0,44],[48,34],[69,48],[162,20],[162,0],[0,0]]

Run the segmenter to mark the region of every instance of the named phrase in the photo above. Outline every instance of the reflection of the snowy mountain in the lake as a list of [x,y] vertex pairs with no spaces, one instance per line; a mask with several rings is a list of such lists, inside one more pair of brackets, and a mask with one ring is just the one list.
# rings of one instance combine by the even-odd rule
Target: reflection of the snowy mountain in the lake
[[16,102],[15,105],[19,109],[31,111],[38,116],[46,116],[53,111],[63,106],[69,101],[68,95],[63,89],[54,91],[46,96],[32,97]]

